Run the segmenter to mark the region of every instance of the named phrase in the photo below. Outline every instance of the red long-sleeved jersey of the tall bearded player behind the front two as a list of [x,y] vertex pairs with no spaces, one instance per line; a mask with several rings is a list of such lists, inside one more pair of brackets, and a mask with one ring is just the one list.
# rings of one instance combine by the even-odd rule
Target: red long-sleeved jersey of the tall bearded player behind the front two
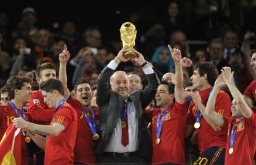
[[27,103],[28,114],[36,124],[49,125],[53,117],[54,109],[43,102],[41,91],[33,91],[30,95],[30,102]]

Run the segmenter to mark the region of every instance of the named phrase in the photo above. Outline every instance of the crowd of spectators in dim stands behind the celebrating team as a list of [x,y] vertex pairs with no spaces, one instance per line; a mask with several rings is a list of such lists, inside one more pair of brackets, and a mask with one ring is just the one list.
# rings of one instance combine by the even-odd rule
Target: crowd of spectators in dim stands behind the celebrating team
[[[249,50],[255,47],[256,37],[246,19],[254,6],[253,2],[246,2],[169,1],[168,5],[163,6],[166,10],[163,17],[147,14],[145,8],[132,12],[130,20],[123,22],[134,23],[137,28],[135,49],[142,52],[146,60],[163,74],[174,68],[171,54],[165,47],[171,44],[181,50],[182,57],[191,58],[194,64],[212,61],[219,71],[223,66],[231,66],[236,70],[234,81],[243,92],[255,78],[249,67]],[[243,6],[239,6],[239,3]],[[244,12],[245,9],[249,10]],[[28,75],[35,80],[35,70],[44,62],[54,63],[58,68],[58,55],[64,44],[69,47],[72,59],[67,65],[67,76],[72,80],[68,82],[69,89],[72,90],[82,77],[88,78],[94,85],[100,71],[122,47],[121,39],[110,41],[107,36],[111,34],[101,33],[104,27],[88,25],[85,30],[78,31],[77,25],[69,20],[59,31],[37,26],[40,20],[32,7],[22,10],[14,31],[8,28],[8,18],[4,12],[0,13],[0,87],[15,74]],[[105,36],[105,40],[102,36]],[[90,53],[90,47],[98,51]],[[139,71],[134,63],[120,67],[124,71]],[[191,69],[184,70],[186,80],[191,73]],[[36,83],[33,83],[33,89],[36,88]]]

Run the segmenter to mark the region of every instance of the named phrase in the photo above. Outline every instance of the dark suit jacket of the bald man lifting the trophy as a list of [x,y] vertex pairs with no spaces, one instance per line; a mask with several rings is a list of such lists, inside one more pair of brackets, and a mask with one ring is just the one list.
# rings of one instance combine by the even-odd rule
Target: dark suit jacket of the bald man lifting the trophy
[[[111,139],[117,122],[119,121],[122,109],[122,97],[109,89],[109,78],[114,73],[106,66],[100,73],[97,88],[97,104],[100,108],[100,124],[98,126],[98,134],[100,139],[95,143],[95,154],[102,154]],[[149,148],[152,147],[148,129],[143,123],[143,110],[153,100],[156,89],[160,83],[156,74],[147,74],[148,86],[142,91],[137,90],[130,95],[130,100],[135,105],[137,118],[139,119],[139,156],[148,156],[151,154]]]

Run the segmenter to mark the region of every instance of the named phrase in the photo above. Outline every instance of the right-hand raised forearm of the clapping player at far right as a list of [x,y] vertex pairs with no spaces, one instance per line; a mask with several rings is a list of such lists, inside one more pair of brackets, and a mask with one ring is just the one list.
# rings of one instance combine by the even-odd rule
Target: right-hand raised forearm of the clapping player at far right
[[234,100],[236,101],[239,109],[241,110],[242,115],[249,119],[252,116],[252,110],[247,105],[247,103],[244,100],[243,95],[241,92],[237,89],[237,87],[233,84],[231,79],[233,78],[233,72],[231,72],[231,68],[229,67],[223,67],[221,70],[223,74],[223,79],[226,82],[229,91],[231,92],[231,95],[233,96]]

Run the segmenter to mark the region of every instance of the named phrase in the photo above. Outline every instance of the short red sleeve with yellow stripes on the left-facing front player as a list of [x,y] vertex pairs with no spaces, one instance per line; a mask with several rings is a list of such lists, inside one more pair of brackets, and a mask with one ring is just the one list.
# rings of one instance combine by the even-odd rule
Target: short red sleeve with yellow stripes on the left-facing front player
[[54,116],[53,123],[62,124],[64,128],[66,128],[69,125],[69,123],[74,118],[69,106],[64,105],[59,108],[59,110],[56,112],[56,115]]

